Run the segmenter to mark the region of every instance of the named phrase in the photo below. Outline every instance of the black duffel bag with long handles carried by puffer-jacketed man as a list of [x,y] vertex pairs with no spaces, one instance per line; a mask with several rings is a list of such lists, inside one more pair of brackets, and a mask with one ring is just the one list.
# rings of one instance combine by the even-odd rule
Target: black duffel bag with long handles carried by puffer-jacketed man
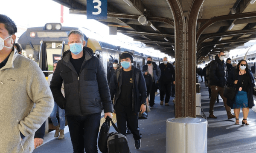
[[116,132],[109,133],[107,141],[108,153],[130,153],[126,136],[119,132],[110,117],[108,117],[108,119],[111,121],[113,127],[116,130]]

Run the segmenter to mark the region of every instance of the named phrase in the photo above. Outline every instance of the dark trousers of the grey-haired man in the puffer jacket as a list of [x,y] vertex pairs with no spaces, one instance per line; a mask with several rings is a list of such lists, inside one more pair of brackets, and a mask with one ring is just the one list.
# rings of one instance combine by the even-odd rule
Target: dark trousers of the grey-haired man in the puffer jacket
[[98,153],[97,138],[100,113],[85,116],[66,116],[73,153]]

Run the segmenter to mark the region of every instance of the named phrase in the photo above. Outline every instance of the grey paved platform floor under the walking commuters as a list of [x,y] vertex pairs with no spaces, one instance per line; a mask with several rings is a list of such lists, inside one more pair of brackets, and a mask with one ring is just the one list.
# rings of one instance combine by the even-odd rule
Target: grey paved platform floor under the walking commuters
[[[209,94],[204,84],[201,84],[201,95],[201,106],[208,117]],[[140,150],[134,148],[132,134],[127,135],[131,153],[166,153],[166,119],[174,117],[174,106],[172,101],[169,102],[170,106],[160,106],[159,94],[155,98],[155,103],[154,108],[148,113],[148,119],[139,120],[143,134]],[[220,103],[215,103],[214,107],[214,114],[218,118],[207,118],[207,153],[256,153],[256,113],[250,109],[247,118],[249,126],[241,125],[243,117],[240,113],[240,125],[235,125],[235,119],[227,119],[223,105],[220,98]],[[114,131],[113,127],[110,130]],[[48,133],[45,143],[33,153],[72,153],[70,134],[68,129],[65,131],[67,133],[62,140],[53,139],[54,131]]]

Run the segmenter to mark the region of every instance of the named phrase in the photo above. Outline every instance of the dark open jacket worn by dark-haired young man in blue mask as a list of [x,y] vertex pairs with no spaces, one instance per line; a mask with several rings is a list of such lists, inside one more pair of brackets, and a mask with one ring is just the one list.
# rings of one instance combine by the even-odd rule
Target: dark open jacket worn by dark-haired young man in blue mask
[[[133,113],[138,113],[140,111],[140,106],[146,102],[147,93],[146,93],[146,83],[145,79],[142,75],[142,72],[136,68],[134,65],[131,65],[131,73],[132,73],[132,80],[137,80],[136,77],[139,77],[139,84],[137,81],[133,81],[133,89],[132,89],[132,110]],[[111,99],[113,100],[115,96],[115,104],[120,96],[121,93],[121,85],[122,85],[122,71],[123,68],[120,70],[120,74],[118,80],[116,80],[116,72],[114,72],[113,76],[111,77],[111,82],[109,85]],[[137,71],[140,72],[140,75],[137,76]]]

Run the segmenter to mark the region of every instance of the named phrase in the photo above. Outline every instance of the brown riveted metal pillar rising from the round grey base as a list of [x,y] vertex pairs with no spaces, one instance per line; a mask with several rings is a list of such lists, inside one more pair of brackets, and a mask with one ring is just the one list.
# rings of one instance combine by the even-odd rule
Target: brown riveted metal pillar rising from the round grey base
[[175,118],[196,117],[196,24],[204,0],[192,0],[185,20],[179,0],[166,0],[175,23]]

